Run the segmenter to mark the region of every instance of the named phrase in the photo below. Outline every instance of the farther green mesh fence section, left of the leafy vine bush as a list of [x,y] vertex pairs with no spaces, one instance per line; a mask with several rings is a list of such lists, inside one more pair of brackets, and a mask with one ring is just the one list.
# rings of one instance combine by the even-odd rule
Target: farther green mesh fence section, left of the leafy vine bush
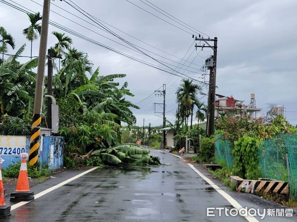
[[233,167],[233,148],[233,142],[221,139],[220,135],[215,135],[215,160],[219,163],[225,163],[229,169]]

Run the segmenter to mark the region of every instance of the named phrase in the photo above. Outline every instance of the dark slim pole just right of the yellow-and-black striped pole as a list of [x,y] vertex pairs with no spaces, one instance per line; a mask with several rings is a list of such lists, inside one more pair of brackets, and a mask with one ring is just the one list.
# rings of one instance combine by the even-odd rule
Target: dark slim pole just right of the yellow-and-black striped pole
[[[48,49],[48,95],[52,96],[52,52]],[[48,128],[51,129],[51,99],[48,98]]]

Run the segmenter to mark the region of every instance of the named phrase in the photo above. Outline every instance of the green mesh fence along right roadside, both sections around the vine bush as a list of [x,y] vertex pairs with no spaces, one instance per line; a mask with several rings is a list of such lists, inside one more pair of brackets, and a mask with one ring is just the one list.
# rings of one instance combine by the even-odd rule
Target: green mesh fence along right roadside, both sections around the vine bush
[[[224,140],[220,135],[216,135],[215,139],[215,160],[232,168],[234,143]],[[263,177],[288,181],[290,195],[297,201],[297,133],[279,134],[262,142],[258,160]]]

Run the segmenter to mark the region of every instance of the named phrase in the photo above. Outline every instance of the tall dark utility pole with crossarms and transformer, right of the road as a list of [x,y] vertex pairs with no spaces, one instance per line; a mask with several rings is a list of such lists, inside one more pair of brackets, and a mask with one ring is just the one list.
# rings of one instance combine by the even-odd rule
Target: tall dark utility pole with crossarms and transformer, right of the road
[[[214,111],[215,111],[215,88],[216,88],[216,67],[217,67],[217,41],[218,38],[203,38],[203,37],[195,37],[197,41],[203,41],[203,45],[195,45],[196,50],[198,47],[203,48],[211,48],[213,50],[213,57],[210,58],[209,61],[213,63],[209,64],[210,72],[209,72],[209,85],[208,85],[208,98],[207,98],[207,122],[206,122],[206,136],[210,137],[214,134]],[[213,41],[213,46],[211,46],[208,41]],[[206,43],[206,45],[204,44]]]

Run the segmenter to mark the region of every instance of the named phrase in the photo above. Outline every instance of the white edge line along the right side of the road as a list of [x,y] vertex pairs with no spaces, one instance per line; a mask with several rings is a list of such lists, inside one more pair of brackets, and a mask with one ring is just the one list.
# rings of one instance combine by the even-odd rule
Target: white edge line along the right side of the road
[[[167,153],[167,154],[171,154],[173,156],[176,156],[178,158],[181,158],[181,156],[169,153],[169,152],[164,152],[161,150],[157,150],[159,152],[163,152],[163,153]],[[191,163],[187,163],[204,181],[206,181],[209,185],[211,185],[219,194],[221,194],[234,208],[236,208],[238,211],[240,209],[242,209],[243,207],[234,199],[232,198],[228,193],[226,193],[224,190],[222,190],[218,185],[216,185],[215,183],[213,183],[210,179],[208,179],[206,176],[204,176],[204,174],[202,174],[198,169],[195,168],[195,166],[193,166]],[[252,217],[252,216],[245,216],[245,218],[247,219],[247,221],[249,222],[259,222],[256,218]]]

